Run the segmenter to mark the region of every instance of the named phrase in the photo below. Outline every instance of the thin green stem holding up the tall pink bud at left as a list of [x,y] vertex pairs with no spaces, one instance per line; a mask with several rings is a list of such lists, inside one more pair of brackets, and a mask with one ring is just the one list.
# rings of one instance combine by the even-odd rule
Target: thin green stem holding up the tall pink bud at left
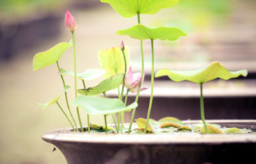
[[[74,51],[74,77],[75,77],[75,97],[77,98],[77,79],[76,79],[76,42],[75,42],[75,36],[74,36],[74,32],[71,33],[72,34],[72,43],[73,43],[73,51]],[[77,112],[77,117],[78,117],[78,120],[79,120],[79,124],[80,124],[80,128],[81,128],[81,131],[84,132],[84,129],[83,129],[83,125],[82,125],[82,122],[81,122],[81,117],[80,117],[80,114],[79,114],[79,108],[77,107],[76,108],[76,112]]]

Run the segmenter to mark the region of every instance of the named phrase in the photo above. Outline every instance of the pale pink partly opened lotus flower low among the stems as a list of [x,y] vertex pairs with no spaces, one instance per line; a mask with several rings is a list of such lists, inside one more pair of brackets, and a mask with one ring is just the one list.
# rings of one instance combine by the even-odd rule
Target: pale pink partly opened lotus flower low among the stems
[[[145,73],[143,73],[143,78],[142,78],[141,86],[143,84],[144,76],[145,76]],[[141,81],[141,73],[138,72],[138,73],[133,73],[132,74],[132,68],[130,66],[129,71],[126,73],[126,76],[125,76],[124,86],[127,89],[129,89],[129,91],[131,93],[136,93],[138,91],[138,89],[139,89],[140,81]],[[141,87],[140,91],[143,91],[145,89],[147,89],[147,87]]]

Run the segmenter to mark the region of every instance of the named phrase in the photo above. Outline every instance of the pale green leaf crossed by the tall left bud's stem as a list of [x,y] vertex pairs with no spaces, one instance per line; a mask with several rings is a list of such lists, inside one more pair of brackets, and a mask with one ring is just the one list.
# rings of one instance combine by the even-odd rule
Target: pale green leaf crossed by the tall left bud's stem
[[[70,76],[75,75],[74,72],[66,71],[63,68],[60,69],[59,73],[61,75],[70,75]],[[77,73],[77,78],[79,78],[81,80],[93,80],[95,78],[98,78],[98,77],[104,75],[104,73],[106,73],[106,71],[102,70],[102,69],[88,69],[88,70],[84,71],[83,73]]]

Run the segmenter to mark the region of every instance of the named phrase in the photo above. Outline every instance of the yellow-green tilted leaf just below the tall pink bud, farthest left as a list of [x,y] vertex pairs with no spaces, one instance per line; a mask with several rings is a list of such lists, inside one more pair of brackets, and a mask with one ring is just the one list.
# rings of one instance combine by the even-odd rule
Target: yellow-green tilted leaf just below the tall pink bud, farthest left
[[45,52],[39,52],[33,59],[33,70],[39,70],[45,66],[57,63],[62,54],[72,46],[72,43],[58,43]]

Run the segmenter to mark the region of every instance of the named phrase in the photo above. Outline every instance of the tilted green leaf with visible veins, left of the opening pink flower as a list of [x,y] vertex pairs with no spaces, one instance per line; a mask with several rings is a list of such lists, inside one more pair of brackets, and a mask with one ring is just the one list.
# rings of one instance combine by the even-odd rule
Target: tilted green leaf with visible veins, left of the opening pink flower
[[[97,96],[100,93],[104,93],[106,91],[116,89],[117,87],[119,87],[122,84],[123,76],[124,75],[122,73],[120,73],[118,75],[115,75],[113,77],[109,77],[109,78],[103,80],[102,82],[100,82],[100,84],[98,86],[89,87],[88,89],[86,89],[87,96]],[[78,89],[77,92],[79,94],[85,95],[84,89]]]

